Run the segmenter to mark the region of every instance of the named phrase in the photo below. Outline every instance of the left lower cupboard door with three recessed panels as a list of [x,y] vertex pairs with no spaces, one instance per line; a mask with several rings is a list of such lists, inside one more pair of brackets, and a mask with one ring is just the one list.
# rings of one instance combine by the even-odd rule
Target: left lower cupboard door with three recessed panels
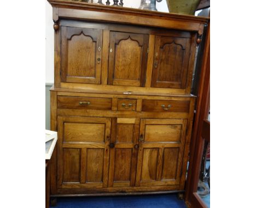
[[107,187],[110,118],[58,117],[57,187]]

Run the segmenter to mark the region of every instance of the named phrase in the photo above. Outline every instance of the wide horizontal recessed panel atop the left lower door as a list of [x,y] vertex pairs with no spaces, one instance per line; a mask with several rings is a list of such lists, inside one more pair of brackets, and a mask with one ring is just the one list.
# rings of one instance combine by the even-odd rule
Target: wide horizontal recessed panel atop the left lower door
[[105,124],[64,123],[65,142],[104,142]]

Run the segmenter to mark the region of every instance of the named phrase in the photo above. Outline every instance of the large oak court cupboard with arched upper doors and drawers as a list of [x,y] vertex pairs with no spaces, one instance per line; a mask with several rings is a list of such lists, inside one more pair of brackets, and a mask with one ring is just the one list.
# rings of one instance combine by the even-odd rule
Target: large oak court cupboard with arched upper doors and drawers
[[48,0],[51,195],[183,192],[195,49],[208,19]]

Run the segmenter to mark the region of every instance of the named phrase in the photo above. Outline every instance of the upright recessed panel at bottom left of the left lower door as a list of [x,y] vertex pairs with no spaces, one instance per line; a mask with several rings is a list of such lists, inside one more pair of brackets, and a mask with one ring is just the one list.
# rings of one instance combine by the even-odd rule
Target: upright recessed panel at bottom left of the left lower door
[[80,182],[80,149],[63,148],[63,182]]

